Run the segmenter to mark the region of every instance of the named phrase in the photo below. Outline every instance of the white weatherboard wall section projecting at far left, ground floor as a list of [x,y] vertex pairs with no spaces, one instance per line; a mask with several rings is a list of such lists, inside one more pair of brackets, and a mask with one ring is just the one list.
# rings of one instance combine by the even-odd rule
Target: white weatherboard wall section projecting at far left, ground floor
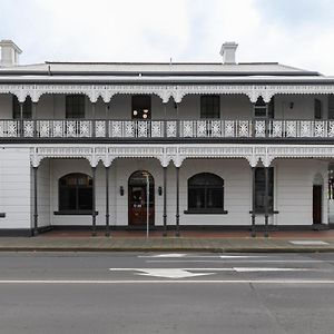
[[0,148],[0,228],[31,227],[29,148]]

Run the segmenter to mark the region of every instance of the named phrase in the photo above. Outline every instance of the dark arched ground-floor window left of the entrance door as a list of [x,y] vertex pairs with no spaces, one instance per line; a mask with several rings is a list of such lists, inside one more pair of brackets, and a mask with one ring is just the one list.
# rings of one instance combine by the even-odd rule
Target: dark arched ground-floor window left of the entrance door
[[89,175],[73,173],[59,179],[59,212],[92,209],[92,179]]

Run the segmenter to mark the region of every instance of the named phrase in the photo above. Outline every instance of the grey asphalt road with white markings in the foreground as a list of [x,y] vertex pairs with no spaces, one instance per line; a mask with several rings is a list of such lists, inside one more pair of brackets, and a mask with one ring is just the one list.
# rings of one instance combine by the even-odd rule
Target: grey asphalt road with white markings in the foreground
[[0,333],[333,334],[334,254],[0,253]]

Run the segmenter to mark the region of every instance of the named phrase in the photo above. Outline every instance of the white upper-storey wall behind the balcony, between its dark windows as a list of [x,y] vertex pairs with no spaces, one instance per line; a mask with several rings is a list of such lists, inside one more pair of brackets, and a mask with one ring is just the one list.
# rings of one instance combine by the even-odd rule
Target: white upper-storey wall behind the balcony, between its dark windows
[[[328,97],[326,95],[277,95],[275,96],[275,118],[313,119],[314,99],[323,102],[323,118],[327,118]],[[37,106],[38,119],[63,119],[65,95],[43,95]],[[293,108],[291,104],[293,102]],[[116,95],[109,104],[110,119],[131,119],[131,96]],[[188,95],[175,108],[173,99],[164,105],[157,96],[151,96],[153,119],[198,119],[200,116],[200,96]],[[96,118],[105,118],[106,106],[101,98],[96,104]],[[0,119],[12,117],[11,95],[0,95]],[[92,117],[91,102],[86,97],[86,117]],[[222,119],[248,119],[253,117],[253,105],[248,97],[243,95],[220,96]]]

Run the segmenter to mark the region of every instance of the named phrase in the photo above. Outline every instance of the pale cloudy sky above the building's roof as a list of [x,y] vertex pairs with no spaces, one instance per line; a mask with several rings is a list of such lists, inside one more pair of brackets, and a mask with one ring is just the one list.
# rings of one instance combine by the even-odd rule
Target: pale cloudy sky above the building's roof
[[334,0],[0,0],[20,63],[276,61],[334,75]]

